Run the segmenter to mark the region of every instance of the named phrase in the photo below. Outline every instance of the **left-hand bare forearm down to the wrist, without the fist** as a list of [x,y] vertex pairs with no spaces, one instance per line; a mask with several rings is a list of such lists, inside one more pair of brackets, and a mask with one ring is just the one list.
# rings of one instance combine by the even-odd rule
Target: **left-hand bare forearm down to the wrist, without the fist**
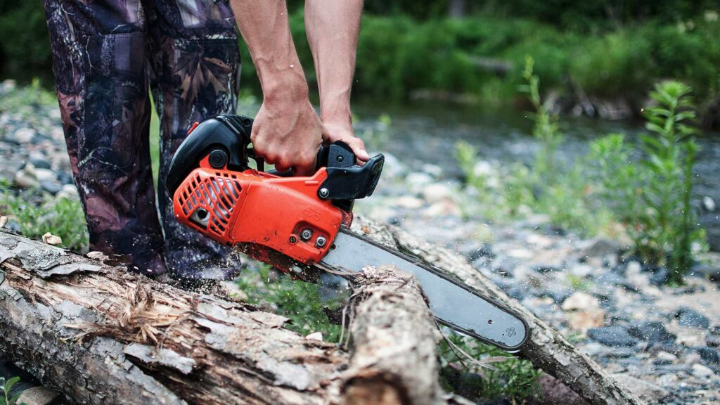
[[264,102],[307,99],[285,0],[230,0],[230,5],[258,72]]

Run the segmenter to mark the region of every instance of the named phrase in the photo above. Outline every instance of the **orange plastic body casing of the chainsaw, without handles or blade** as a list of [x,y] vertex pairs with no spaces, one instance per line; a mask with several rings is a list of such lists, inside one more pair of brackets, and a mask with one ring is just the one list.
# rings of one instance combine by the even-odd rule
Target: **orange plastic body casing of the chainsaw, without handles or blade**
[[[253,259],[287,272],[292,260],[320,262],[340,227],[352,221],[351,212],[317,197],[327,177],[325,168],[310,177],[214,169],[206,156],[176,188],[174,213],[183,225],[222,244],[243,245]],[[279,262],[275,252],[292,260]]]

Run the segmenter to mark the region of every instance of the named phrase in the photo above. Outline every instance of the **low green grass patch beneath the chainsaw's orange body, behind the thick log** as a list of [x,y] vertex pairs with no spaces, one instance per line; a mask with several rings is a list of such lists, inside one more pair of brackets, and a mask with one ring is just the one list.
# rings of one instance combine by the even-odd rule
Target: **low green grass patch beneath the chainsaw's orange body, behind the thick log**
[[341,326],[330,324],[323,308],[333,308],[335,301],[320,300],[320,286],[312,282],[292,280],[278,274],[268,264],[259,264],[256,270],[245,270],[238,277],[238,288],[256,305],[270,306],[274,311],[292,320],[287,328],[301,334],[321,332],[325,342],[338,342]]

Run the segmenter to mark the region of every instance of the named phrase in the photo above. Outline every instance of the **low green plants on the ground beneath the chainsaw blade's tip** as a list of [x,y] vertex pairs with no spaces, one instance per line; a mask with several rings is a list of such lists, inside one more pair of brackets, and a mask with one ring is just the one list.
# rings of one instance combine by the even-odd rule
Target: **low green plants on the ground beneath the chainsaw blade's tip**
[[[441,383],[444,388],[462,391],[472,397],[470,399],[506,399],[513,404],[523,404],[540,396],[537,378],[542,372],[528,360],[456,334],[451,334],[448,339],[451,343],[443,341],[440,346]],[[487,367],[470,365],[457,348],[475,360],[487,362]]]

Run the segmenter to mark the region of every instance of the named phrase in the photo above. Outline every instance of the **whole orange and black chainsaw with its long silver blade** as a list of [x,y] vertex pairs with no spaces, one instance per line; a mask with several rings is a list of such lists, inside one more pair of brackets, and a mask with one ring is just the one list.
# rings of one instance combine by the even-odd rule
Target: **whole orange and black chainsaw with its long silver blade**
[[251,147],[252,125],[242,115],[217,115],[189,129],[166,178],[180,223],[303,280],[394,265],[415,276],[440,324],[508,351],[526,341],[528,326],[516,311],[350,230],[354,200],[374,192],[382,154],[360,166],[338,141],[320,148],[311,176],[266,172]]

